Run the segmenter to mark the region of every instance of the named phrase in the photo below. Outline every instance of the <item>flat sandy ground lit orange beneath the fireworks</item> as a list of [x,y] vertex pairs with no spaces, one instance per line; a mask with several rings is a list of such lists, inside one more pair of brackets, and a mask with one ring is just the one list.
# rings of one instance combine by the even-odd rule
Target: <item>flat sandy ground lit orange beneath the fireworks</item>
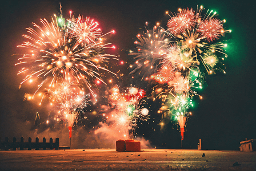
[[[203,156],[205,153],[205,157]],[[256,152],[115,149],[0,151],[0,170],[256,170]]]

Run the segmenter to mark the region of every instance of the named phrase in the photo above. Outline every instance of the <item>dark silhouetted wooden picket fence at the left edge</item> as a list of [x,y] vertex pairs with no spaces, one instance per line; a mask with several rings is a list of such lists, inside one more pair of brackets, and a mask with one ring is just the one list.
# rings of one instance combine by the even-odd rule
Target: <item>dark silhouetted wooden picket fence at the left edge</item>
[[16,150],[17,148],[19,148],[19,150],[24,150],[24,149],[35,149],[35,150],[39,150],[39,149],[59,149],[59,139],[55,139],[55,143],[53,143],[53,139],[50,138],[50,142],[46,143],[46,139],[45,137],[43,138],[43,143],[39,143],[39,138],[37,137],[35,139],[35,143],[32,143],[32,139],[29,137],[29,142],[25,143],[24,142],[24,138],[21,137],[21,141],[20,142],[16,142],[16,137],[13,137],[13,143],[9,143],[9,138],[5,137],[5,141],[1,142],[1,138],[0,138],[0,150]]

